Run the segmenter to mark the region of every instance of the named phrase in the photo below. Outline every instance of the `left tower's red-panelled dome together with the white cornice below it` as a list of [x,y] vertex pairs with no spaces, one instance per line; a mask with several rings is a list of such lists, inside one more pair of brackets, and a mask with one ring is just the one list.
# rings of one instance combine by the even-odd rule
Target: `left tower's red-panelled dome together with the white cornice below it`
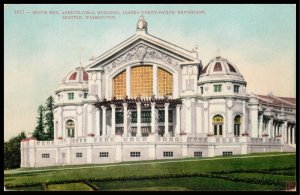
[[67,76],[62,80],[61,85],[56,89],[56,93],[72,90],[86,91],[88,90],[88,80],[88,73],[83,67],[78,67],[67,74]]

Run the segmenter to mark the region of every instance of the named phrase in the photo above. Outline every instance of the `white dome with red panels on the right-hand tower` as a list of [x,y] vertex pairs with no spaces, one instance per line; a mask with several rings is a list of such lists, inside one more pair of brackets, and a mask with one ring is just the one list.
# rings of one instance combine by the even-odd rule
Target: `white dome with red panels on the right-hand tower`
[[201,70],[199,81],[236,80],[246,83],[237,67],[227,59],[217,56]]

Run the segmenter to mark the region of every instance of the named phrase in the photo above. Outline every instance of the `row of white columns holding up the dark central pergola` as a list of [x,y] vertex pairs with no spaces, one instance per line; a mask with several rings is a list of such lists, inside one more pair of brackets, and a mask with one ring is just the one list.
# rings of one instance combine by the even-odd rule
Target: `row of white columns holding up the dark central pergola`
[[[168,134],[168,130],[169,130],[169,106],[170,103],[165,103],[164,107],[165,107],[165,133]],[[112,111],[112,129],[111,129],[111,135],[115,135],[115,131],[116,131],[116,105],[111,104],[111,111]],[[181,105],[177,105],[176,106],[176,127],[175,127],[175,134],[180,134],[180,107]],[[107,135],[107,125],[106,125],[106,110],[107,107],[105,106],[101,106],[102,109],[102,135]],[[142,123],[141,123],[141,102],[137,102],[136,103],[136,110],[137,110],[137,137],[141,137],[142,133],[141,133],[141,127],[142,127]],[[155,117],[155,102],[151,103],[151,134],[155,134],[155,130],[156,130],[156,117]],[[100,117],[99,114],[96,115],[96,117]],[[129,118],[128,118],[128,104],[127,103],[123,103],[123,134],[126,136],[128,134],[128,124],[129,124]],[[91,123],[90,123],[91,124]],[[96,131],[99,131],[99,128],[97,128],[96,126]],[[100,131],[99,131],[100,132]]]

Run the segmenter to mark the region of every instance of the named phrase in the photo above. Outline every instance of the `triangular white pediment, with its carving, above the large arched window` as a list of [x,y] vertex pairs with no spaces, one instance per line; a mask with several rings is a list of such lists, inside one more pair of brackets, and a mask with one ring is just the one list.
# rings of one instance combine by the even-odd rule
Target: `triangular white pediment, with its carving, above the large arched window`
[[156,61],[174,67],[186,63],[200,63],[200,60],[193,56],[194,53],[152,36],[152,39],[147,39],[147,36],[150,35],[133,36],[127,43],[125,41],[97,57],[86,70],[100,69],[110,72],[121,64],[137,61]]

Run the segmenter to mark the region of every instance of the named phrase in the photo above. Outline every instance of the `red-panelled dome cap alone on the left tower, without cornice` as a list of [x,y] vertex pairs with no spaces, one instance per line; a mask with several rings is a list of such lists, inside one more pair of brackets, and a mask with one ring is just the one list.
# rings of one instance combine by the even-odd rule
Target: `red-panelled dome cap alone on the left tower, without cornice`
[[88,82],[88,80],[88,73],[83,67],[78,67],[74,71],[69,72],[69,74],[62,80],[62,83],[82,83]]

